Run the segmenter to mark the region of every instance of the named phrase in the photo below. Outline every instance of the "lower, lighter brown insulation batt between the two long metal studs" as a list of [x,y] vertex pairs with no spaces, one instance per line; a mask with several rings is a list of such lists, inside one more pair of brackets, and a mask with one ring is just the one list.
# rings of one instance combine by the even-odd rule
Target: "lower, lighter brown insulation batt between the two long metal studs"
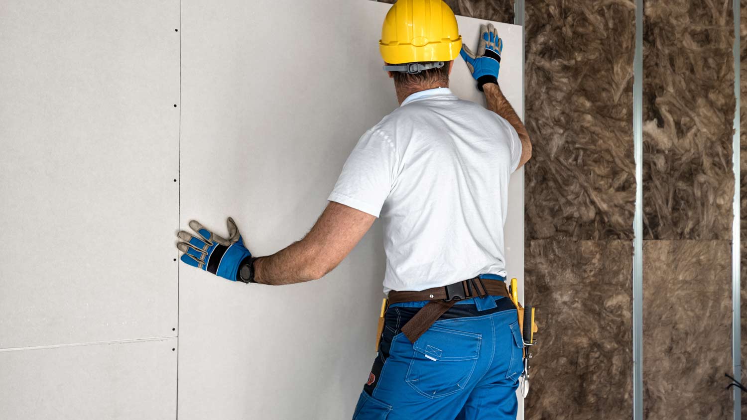
[[643,243],[646,419],[727,419],[731,241]]

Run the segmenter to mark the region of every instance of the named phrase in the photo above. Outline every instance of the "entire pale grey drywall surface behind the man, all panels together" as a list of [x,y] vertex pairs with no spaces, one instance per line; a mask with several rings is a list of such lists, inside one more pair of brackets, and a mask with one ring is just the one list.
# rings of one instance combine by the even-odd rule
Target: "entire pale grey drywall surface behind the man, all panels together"
[[[282,288],[184,266],[174,234],[234,216],[261,255],[306,233],[356,140],[397,106],[386,10],[0,4],[0,419],[350,417],[374,357],[379,226],[323,280]],[[477,43],[480,21],[459,25]],[[521,110],[521,28],[498,28]],[[454,92],[483,101],[455,64]],[[523,170],[509,194],[523,280]]]

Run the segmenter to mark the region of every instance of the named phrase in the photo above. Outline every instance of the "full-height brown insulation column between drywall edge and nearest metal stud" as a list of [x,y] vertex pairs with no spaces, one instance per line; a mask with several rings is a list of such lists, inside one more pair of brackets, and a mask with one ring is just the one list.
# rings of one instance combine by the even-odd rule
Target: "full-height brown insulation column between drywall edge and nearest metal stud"
[[632,416],[634,13],[526,4],[524,278],[541,328],[526,419]]

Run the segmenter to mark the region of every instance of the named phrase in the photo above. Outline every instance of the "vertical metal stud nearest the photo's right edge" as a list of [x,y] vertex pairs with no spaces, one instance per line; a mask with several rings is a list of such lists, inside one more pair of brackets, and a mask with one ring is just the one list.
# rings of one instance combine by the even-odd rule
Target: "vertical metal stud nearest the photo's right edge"
[[[741,341],[742,326],[740,313],[741,292],[741,236],[740,236],[740,0],[732,1],[732,14],[734,16],[734,96],[737,107],[734,108],[734,137],[731,143],[731,164],[734,169],[734,218],[731,223],[731,355],[734,361],[734,378],[742,380]],[[742,419],[742,392],[737,386],[732,387],[734,392],[734,420]]]

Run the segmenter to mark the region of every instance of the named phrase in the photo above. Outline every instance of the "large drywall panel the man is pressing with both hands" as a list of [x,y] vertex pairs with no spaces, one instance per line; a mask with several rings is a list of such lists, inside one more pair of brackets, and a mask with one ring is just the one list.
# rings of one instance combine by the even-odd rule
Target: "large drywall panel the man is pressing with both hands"
[[[257,255],[309,230],[360,135],[397,107],[377,44],[388,7],[182,1],[182,227],[197,219],[226,233],[233,216]],[[459,24],[476,44],[480,21]],[[498,27],[500,81],[521,112],[521,28]],[[483,101],[460,58],[452,88]],[[509,259],[523,254],[513,228]],[[376,223],[310,283],[244,285],[182,264],[180,419],[350,418],[375,355],[384,261]],[[521,277],[515,261],[509,272]]]

